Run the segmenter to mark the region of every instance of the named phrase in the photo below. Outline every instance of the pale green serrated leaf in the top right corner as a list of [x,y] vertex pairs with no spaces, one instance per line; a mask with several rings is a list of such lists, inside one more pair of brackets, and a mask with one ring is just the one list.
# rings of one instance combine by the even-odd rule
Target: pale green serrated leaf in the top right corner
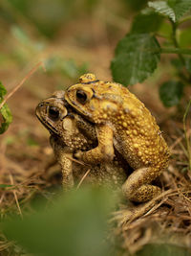
[[163,14],[172,21],[177,22],[180,18],[191,10],[190,0],[168,0],[148,2],[148,6],[153,8],[156,12]]

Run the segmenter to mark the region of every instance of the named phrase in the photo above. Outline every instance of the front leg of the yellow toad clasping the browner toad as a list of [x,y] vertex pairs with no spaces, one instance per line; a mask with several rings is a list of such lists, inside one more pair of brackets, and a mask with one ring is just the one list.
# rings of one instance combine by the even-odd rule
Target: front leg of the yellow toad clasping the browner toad
[[78,152],[75,156],[89,164],[112,161],[114,158],[113,133],[113,129],[109,126],[97,126],[96,135],[98,146],[91,151]]

